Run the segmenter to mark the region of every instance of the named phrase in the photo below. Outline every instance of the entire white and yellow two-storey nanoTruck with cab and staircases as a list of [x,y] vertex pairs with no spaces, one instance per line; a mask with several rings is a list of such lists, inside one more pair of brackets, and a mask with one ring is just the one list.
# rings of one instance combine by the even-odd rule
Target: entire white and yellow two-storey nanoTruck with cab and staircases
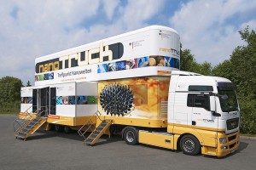
[[84,144],[119,133],[187,155],[226,156],[239,147],[240,109],[224,77],[179,71],[180,37],[148,26],[38,57],[35,86],[21,88],[15,137],[39,127],[78,130]]

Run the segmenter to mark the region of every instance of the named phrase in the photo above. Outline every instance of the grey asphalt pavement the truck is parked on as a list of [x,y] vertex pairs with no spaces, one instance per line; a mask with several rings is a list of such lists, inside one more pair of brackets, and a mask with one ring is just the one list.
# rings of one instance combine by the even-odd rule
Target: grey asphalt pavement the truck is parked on
[[119,136],[103,136],[95,146],[78,133],[39,130],[26,141],[15,139],[15,116],[0,115],[0,169],[184,170],[255,169],[256,140],[241,139],[230,156],[186,156],[181,151],[146,144],[128,145]]

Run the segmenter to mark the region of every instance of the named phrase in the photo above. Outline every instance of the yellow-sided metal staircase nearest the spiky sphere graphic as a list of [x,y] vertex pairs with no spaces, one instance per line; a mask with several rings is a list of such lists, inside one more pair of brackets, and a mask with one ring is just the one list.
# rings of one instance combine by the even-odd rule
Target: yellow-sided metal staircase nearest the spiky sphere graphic
[[[96,116],[96,122],[101,121],[98,127],[96,127],[96,122],[93,122],[93,117]],[[90,119],[81,127],[78,131],[79,136],[84,137],[84,144],[93,145],[96,143],[98,139],[101,138],[102,134],[108,130],[110,125],[112,124],[113,120],[102,120],[101,119],[100,111],[96,111],[95,115],[91,116]],[[86,130],[83,132],[84,127],[87,127]],[[86,138],[84,134],[90,130],[90,135]]]

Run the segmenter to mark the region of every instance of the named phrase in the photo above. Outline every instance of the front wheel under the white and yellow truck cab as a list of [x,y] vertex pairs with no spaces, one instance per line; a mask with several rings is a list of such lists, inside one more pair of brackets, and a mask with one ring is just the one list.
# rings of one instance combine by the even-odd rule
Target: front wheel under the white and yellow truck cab
[[180,140],[180,148],[183,150],[183,154],[189,156],[195,156],[201,152],[201,144],[195,138],[195,136],[186,134]]

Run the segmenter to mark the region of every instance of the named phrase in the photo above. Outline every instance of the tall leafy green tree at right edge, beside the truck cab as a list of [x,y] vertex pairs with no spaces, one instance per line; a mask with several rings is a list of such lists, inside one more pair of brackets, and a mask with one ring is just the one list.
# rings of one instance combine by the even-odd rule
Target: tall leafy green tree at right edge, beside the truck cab
[[246,45],[235,48],[230,59],[214,67],[212,72],[235,82],[241,108],[241,132],[256,133],[256,34],[249,31],[248,26],[239,33]]

